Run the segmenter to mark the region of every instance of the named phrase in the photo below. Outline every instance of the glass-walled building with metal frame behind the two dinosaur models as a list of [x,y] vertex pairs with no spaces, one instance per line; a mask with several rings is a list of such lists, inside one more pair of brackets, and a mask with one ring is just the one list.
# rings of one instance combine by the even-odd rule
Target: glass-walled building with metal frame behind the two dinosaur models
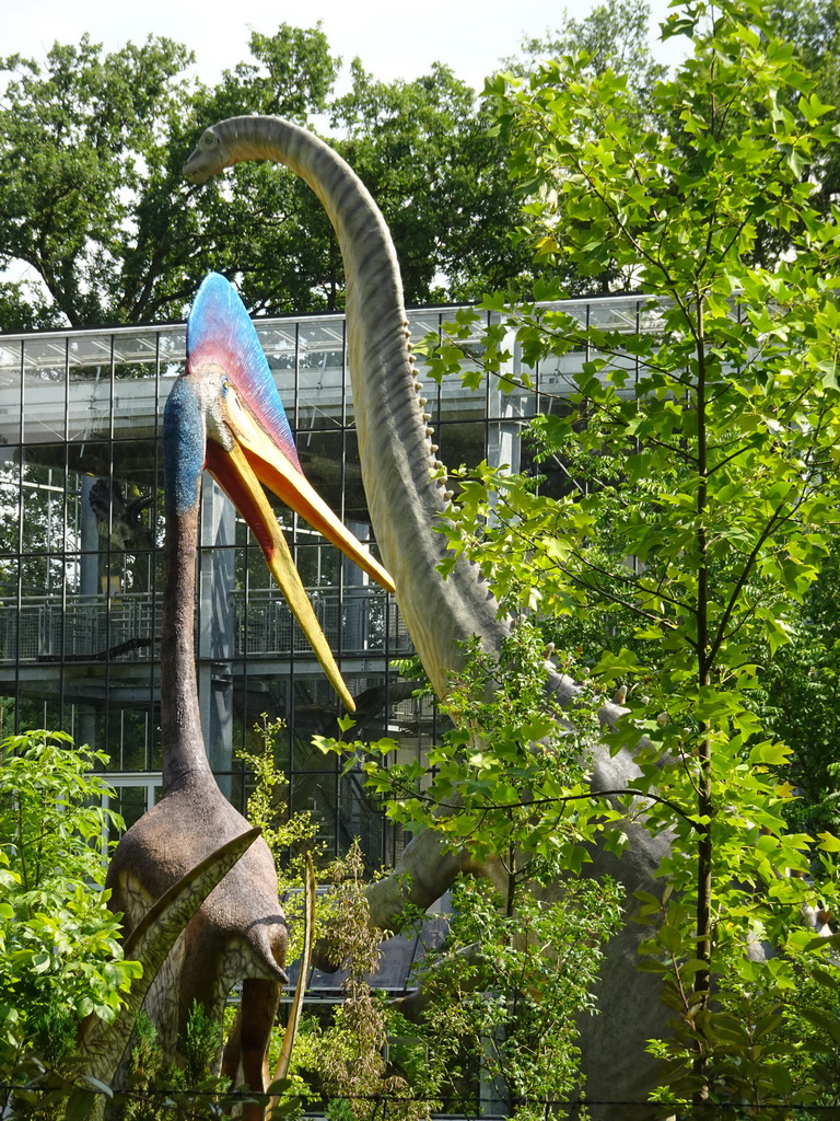
[[[635,297],[562,307],[581,322],[633,332],[643,315]],[[413,337],[439,330],[454,313],[410,312]],[[344,317],[255,324],[304,471],[345,525],[371,540]],[[511,350],[515,376],[520,358]],[[454,378],[442,387],[427,381],[440,458],[531,470],[522,426],[535,413],[562,408],[568,374],[587,356],[552,359],[530,371],[533,389],[514,393],[493,383],[470,391]],[[115,808],[129,823],[160,786],[160,433],[184,360],[184,324],[0,335],[0,734],[62,729],[104,751]],[[568,485],[561,464],[539,472],[544,488]],[[357,698],[360,734],[392,735],[405,758],[422,756],[437,732],[436,714],[390,668],[412,652],[393,599],[305,522],[276,509]],[[248,779],[240,752],[253,749],[254,725],[281,721],[278,762],[290,807],[314,813],[328,852],[358,836],[373,865],[390,863],[401,839],[358,777],[342,776],[335,758],[311,745],[312,734],[337,730],[337,701],[259,546],[207,475],[199,545],[199,702],[220,785],[242,808]]]

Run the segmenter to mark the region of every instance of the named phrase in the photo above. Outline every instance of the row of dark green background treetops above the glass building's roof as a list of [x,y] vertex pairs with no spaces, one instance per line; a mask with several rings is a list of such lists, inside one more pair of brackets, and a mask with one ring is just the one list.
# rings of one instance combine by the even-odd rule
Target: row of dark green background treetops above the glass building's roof
[[0,284],[2,328],[180,317],[209,267],[254,312],[339,306],[337,244],[300,180],[248,165],[233,192],[183,184],[202,129],[240,113],[328,119],[394,231],[410,303],[516,272],[515,204],[475,91],[444,66],[386,84],[354,62],[336,98],[342,59],[319,28],[281,25],[250,48],[213,89],[167,39],[106,53],[85,36],[43,66],[0,59],[0,268],[25,262],[40,281]]

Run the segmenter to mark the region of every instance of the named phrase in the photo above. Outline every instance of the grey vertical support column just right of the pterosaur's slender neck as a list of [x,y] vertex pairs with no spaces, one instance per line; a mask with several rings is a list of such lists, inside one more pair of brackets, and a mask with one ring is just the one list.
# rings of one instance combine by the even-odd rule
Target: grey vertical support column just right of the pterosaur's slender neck
[[207,758],[230,797],[233,766],[233,580],[236,516],[216,483],[202,488],[198,580],[198,707]]

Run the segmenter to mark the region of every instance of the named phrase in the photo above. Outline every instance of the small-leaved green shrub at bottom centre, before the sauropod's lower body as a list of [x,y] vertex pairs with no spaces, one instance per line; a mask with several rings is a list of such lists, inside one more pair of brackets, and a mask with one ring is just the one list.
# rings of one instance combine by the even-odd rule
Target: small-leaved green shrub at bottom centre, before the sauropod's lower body
[[465,1069],[493,1084],[521,1121],[570,1099],[579,1074],[576,1023],[597,1011],[591,989],[618,921],[610,886],[591,880],[571,881],[553,900],[525,881],[515,898],[484,879],[456,884],[446,946],[417,969],[427,1003],[413,1029],[430,1056],[422,1074],[435,1076],[449,1111],[449,1103],[458,1112],[472,1108],[461,1096]]

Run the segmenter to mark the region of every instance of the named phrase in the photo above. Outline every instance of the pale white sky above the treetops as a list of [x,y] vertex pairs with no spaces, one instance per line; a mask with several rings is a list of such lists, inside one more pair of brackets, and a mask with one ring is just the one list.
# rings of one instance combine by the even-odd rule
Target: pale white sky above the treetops
[[[411,81],[432,62],[480,90],[500,58],[515,54],[523,35],[541,35],[560,21],[551,0],[0,0],[0,56],[44,59],[57,39],[78,43],[87,31],[115,49],[149,35],[185,43],[200,78],[214,84],[224,70],[248,59],[251,30],[272,35],[280,24],[323,21],[334,54],[361,57],[384,82]],[[581,19],[592,0],[570,0]],[[653,0],[652,24],[665,18],[668,0]],[[662,55],[664,61],[671,61]]]

